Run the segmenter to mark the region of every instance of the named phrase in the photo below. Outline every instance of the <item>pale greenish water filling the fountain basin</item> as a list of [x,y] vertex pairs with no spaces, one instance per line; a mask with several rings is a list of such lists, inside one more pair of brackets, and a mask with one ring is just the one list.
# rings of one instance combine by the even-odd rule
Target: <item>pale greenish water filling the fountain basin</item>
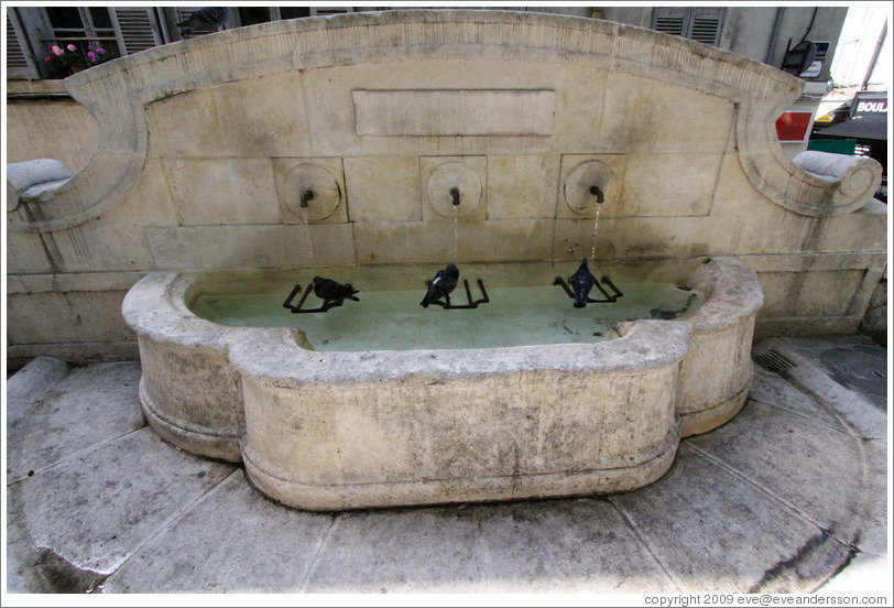
[[[490,302],[472,310],[419,306],[425,290],[361,291],[326,313],[294,314],[283,307],[293,285],[254,294],[199,296],[193,312],[208,321],[239,327],[297,327],[320,351],[494,348],[591,343],[612,337],[622,321],[674,318],[697,308],[699,294],[670,284],[619,285],[618,302],[575,308],[560,286],[488,289]],[[472,298],[478,285],[469,281]],[[487,287],[487,282],[486,282]],[[596,289],[591,297],[600,297]],[[301,294],[292,301],[297,305]],[[466,304],[460,282],[453,304]],[[321,302],[312,293],[305,308]]]

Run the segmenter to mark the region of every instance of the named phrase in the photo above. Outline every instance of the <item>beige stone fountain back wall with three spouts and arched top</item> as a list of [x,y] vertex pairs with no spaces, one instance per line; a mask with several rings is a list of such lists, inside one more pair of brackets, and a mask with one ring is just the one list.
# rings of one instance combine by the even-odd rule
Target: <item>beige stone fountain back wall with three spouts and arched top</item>
[[[363,12],[156,47],[66,87],[98,144],[8,206],[11,312],[53,310],[36,294],[75,275],[108,291],[162,269],[440,263],[454,215],[459,263],[579,259],[597,209],[597,259],[739,256],[777,333],[855,328],[884,265],[876,167],[799,166],[776,141],[800,80],[647,30]],[[53,341],[32,322],[14,344]]]

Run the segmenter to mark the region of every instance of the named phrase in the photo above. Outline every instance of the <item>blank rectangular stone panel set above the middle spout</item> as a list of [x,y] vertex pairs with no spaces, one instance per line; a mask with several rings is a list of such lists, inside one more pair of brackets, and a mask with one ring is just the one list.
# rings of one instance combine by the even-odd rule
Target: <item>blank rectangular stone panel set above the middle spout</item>
[[359,135],[550,135],[553,90],[355,90]]

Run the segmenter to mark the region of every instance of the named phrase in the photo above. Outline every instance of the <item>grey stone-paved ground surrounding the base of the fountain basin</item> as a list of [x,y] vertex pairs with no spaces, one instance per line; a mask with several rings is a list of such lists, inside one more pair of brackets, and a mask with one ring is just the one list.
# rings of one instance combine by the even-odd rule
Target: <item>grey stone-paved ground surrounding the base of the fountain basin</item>
[[[742,412],[611,496],[309,513],[162,441],[139,362],[8,380],[4,599],[103,594],[818,593],[892,599],[887,352],[756,344]],[[12,595],[10,595],[12,594]],[[4,601],[6,604],[6,601]]]

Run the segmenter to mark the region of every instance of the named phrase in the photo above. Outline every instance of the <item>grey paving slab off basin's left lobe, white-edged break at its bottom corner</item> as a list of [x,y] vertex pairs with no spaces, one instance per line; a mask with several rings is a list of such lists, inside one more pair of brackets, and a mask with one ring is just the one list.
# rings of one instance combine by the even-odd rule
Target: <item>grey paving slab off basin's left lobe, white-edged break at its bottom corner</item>
[[106,575],[235,468],[172,448],[146,426],[21,481],[10,519],[34,546]]

